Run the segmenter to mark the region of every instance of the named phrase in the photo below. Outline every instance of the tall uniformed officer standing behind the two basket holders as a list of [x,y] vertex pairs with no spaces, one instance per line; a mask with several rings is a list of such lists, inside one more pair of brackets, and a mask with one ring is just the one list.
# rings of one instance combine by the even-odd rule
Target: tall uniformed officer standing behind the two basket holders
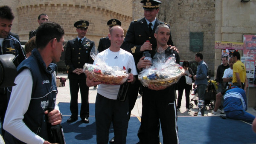
[[[163,22],[156,18],[156,14],[159,12],[159,4],[161,3],[160,1],[142,0],[140,3],[143,3],[144,17],[140,20],[134,20],[130,23],[130,26],[125,36],[125,41],[121,46],[122,49],[131,52],[131,54],[134,56],[136,66],[140,58],[143,57],[144,51],[149,51],[149,53],[151,53],[151,56],[155,55],[157,48],[157,40],[154,37],[154,32],[158,25],[163,24]],[[149,42],[147,40],[149,40]],[[173,46],[171,33],[167,44],[169,46],[172,46],[171,49],[177,50],[175,46]],[[137,72],[140,72],[138,68]],[[130,90],[128,91],[128,95],[130,113],[135,105],[139,87],[140,81],[138,79],[134,84],[131,84],[129,87]],[[142,104],[144,103],[145,100],[146,97],[142,97]],[[141,126],[142,125],[143,123],[141,123]],[[143,128],[140,127],[138,132],[140,142],[142,142],[142,135]]]

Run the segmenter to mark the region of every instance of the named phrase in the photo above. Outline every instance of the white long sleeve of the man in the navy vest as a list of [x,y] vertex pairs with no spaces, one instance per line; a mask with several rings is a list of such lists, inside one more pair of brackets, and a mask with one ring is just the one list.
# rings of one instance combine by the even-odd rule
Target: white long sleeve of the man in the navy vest
[[[44,138],[32,132],[23,122],[24,115],[29,108],[32,93],[33,81],[30,70],[24,69],[20,72],[14,83],[17,85],[12,87],[3,128],[27,144],[43,144]],[[57,104],[55,104],[54,109],[59,110]]]

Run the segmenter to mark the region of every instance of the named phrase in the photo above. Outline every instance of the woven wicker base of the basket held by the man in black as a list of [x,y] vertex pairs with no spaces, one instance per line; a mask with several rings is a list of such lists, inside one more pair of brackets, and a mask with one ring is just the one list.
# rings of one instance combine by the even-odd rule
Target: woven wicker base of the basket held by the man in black
[[139,78],[139,80],[141,81],[141,83],[143,84],[143,86],[148,86],[148,84],[154,84],[155,86],[159,87],[159,86],[171,86],[172,84],[175,84],[179,81],[179,79],[181,78],[182,73],[180,73],[179,75],[172,77],[172,78],[164,78],[164,79],[157,79],[157,80],[149,80],[149,79],[141,79]]

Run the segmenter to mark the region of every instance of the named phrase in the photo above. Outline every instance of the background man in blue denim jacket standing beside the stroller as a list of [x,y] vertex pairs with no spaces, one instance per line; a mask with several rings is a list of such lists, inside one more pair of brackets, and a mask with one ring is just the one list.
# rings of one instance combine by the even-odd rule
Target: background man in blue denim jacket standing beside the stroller
[[[207,72],[208,72],[208,66],[203,60],[203,54],[198,52],[195,54],[195,61],[198,62],[198,68],[196,71],[196,75],[194,76],[195,83],[193,85],[193,88],[195,89],[195,86],[197,86],[198,90],[198,98],[199,100],[204,101],[204,94],[207,87]],[[204,107],[201,109],[202,116],[204,116]],[[197,116],[198,112],[195,112],[194,116]]]

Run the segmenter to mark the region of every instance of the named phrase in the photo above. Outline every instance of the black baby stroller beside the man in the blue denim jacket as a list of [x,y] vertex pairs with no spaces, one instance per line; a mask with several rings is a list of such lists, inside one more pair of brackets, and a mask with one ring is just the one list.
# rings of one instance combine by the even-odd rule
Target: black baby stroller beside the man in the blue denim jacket
[[[209,73],[210,73],[210,69],[209,69]],[[208,83],[207,83],[207,89],[205,90],[205,94],[204,94],[204,104],[205,104],[205,110],[207,109],[206,106],[209,106],[209,109],[212,110],[214,109],[214,103],[215,99],[216,99],[216,94],[218,93],[218,86],[216,81],[211,80],[211,77],[208,76]],[[193,98],[190,99],[190,108],[194,107],[194,104],[192,104],[192,101],[194,101],[196,107],[198,104],[198,93],[197,93],[197,88],[193,89],[191,92],[191,95],[194,95]]]

